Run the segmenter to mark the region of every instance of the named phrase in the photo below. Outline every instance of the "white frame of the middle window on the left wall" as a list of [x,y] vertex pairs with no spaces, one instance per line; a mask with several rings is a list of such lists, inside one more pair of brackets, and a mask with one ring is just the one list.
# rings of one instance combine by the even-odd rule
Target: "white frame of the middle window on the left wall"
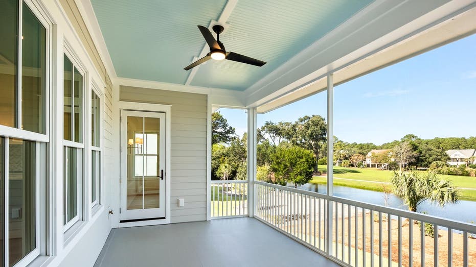
[[[85,210],[84,210],[84,200],[87,199],[85,196],[87,196],[87,181],[86,181],[86,177],[88,177],[86,174],[83,173],[85,167],[88,165],[87,164],[87,160],[88,160],[88,156],[86,155],[87,153],[86,152],[86,147],[85,147],[85,143],[87,143],[88,141],[88,138],[86,136],[86,118],[85,118],[85,114],[86,114],[86,95],[89,95],[86,91],[88,90],[88,86],[87,85],[87,72],[85,71],[85,68],[83,67],[83,65],[80,63],[79,60],[77,60],[77,56],[73,53],[73,50],[70,48],[70,46],[67,44],[67,42],[65,42],[65,45],[63,47],[63,55],[66,56],[72,63],[73,65],[73,68],[72,68],[72,83],[74,85],[74,70],[76,69],[79,74],[82,76],[83,78],[83,81],[82,81],[82,103],[81,103],[81,126],[82,126],[82,129],[81,129],[81,136],[82,136],[82,140],[81,142],[75,142],[75,141],[71,141],[71,140],[65,140],[63,139],[63,160],[64,158],[66,157],[66,147],[69,147],[69,148],[75,148],[76,151],[77,151],[77,155],[76,155],[76,159],[77,159],[77,173],[76,173],[76,182],[77,182],[77,185],[76,185],[76,196],[77,196],[77,211],[78,211],[78,214],[73,217],[73,219],[71,219],[69,222],[66,222],[66,224],[64,224],[63,222],[63,234],[66,234],[66,232],[68,230],[74,230],[74,229],[77,229],[77,227],[73,227],[75,224],[80,224],[82,222],[85,221]],[[64,71],[64,65],[62,66],[62,69],[61,71]],[[63,77],[64,79],[64,77]],[[74,88],[72,88],[74,90]],[[74,92],[74,91],[73,91]],[[61,98],[62,98],[62,107],[63,107],[63,110],[62,112],[64,113],[64,88],[63,88],[63,91],[62,91],[62,94],[61,94]],[[71,103],[71,117],[72,117],[72,120],[71,120],[71,124],[72,124],[72,132],[71,132],[71,139],[74,140],[75,138],[75,132],[74,132],[74,94],[72,94],[71,96],[72,98],[72,103]],[[64,138],[64,136],[63,136]],[[82,153],[79,153],[79,150],[82,150]],[[79,154],[81,154],[81,157],[79,156]],[[66,166],[64,166],[66,167]],[[63,177],[63,183],[65,183],[67,180]],[[67,188],[67,184],[66,185],[63,185],[63,188]],[[64,198],[64,194],[66,192],[63,191],[63,198]],[[67,198],[65,198],[66,201],[67,201]],[[67,202],[64,203],[64,200],[63,200],[63,205],[66,205],[66,216],[67,216]],[[63,210],[62,212],[64,212],[65,208],[63,207]],[[65,214],[63,214],[64,216]],[[69,233],[68,233],[69,234]],[[65,238],[65,241],[69,239],[69,238]]]

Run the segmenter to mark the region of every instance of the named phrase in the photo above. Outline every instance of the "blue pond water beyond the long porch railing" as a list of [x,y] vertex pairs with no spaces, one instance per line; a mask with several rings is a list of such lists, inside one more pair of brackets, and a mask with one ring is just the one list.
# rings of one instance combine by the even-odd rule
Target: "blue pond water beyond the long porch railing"
[[[288,184],[288,186],[294,187],[293,184]],[[327,187],[325,184],[307,183],[302,186],[299,186],[298,188],[323,194],[327,193]],[[408,210],[408,207],[403,204],[401,199],[399,199],[393,194],[390,194],[387,203],[385,203],[386,201],[384,195],[385,194],[382,192],[334,185],[334,196],[336,197]],[[447,219],[452,219],[465,223],[476,223],[475,201],[461,200],[456,204],[447,204],[444,208],[432,204],[429,201],[424,201],[423,203],[418,205],[418,211],[426,212],[429,215],[444,217]]]

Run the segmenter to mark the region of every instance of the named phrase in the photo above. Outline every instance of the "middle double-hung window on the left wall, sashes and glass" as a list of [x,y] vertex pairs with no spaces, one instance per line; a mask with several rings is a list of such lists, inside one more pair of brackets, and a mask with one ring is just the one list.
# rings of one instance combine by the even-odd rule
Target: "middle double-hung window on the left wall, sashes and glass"
[[63,230],[83,220],[84,72],[65,49],[63,58]]

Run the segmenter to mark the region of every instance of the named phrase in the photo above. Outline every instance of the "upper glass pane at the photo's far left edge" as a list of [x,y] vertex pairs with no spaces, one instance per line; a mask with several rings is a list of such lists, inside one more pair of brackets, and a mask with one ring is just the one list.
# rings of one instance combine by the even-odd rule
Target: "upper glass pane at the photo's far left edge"
[[0,18],[0,125],[16,127],[18,1],[1,1]]

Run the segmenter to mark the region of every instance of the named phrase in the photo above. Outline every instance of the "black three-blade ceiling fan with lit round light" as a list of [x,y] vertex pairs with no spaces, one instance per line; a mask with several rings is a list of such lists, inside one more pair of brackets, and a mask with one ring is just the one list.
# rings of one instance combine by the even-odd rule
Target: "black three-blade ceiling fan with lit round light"
[[207,54],[207,56],[202,57],[199,60],[193,62],[192,64],[186,66],[184,68],[185,70],[189,70],[210,59],[214,59],[214,60],[228,59],[228,60],[251,64],[251,65],[255,65],[259,67],[266,64],[266,62],[258,60],[258,59],[246,57],[246,56],[233,53],[233,52],[226,52],[225,46],[223,45],[223,43],[220,42],[220,33],[223,32],[223,29],[224,29],[223,26],[215,25],[212,27],[213,31],[216,33],[216,36],[217,36],[216,40],[213,37],[212,33],[206,27],[198,25],[198,29],[200,30],[201,34],[203,35],[208,45],[210,46],[210,52]]

